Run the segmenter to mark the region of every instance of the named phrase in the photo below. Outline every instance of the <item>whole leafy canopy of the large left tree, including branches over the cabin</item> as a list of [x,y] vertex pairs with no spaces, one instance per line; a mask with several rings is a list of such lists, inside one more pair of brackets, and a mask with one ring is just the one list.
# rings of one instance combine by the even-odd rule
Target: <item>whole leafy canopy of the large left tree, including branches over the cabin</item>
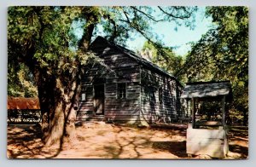
[[[159,21],[175,21],[180,25],[181,20],[186,20],[186,26],[191,26],[189,17],[193,16],[195,10],[192,7],[147,6],[9,7],[9,95],[15,95],[15,91],[19,91],[18,87],[22,90],[22,87],[15,86],[21,85],[16,75],[20,69],[26,75],[24,78],[31,78],[28,73],[35,75],[36,69],[49,75],[44,76],[45,79],[61,76],[63,82],[68,82],[74,78],[73,72],[79,65],[84,66],[88,61],[96,60],[93,54],[84,52],[83,43],[90,43],[90,33],[99,31],[97,25],[103,27],[105,36],[113,43],[125,45],[126,39],[132,37],[132,32],[139,32],[154,44],[160,55],[169,56],[171,52],[165,54],[168,49],[162,48],[162,43],[155,42],[157,35],[151,33],[150,25]],[[76,36],[73,24],[83,27],[82,39]],[[172,54],[170,56],[172,58]],[[160,60],[160,57],[155,59]],[[160,62],[166,66],[164,60]],[[166,70],[170,69],[166,66]],[[35,94],[32,91],[29,95]]]

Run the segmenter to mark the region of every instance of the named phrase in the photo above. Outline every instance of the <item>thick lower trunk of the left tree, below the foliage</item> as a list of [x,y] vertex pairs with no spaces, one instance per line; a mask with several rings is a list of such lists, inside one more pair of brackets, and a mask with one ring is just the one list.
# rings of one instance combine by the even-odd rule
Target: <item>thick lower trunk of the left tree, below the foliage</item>
[[[75,138],[76,111],[74,104],[79,99],[79,79],[67,80],[67,76],[50,76],[47,72],[37,70],[35,80],[38,85],[42,119],[43,140],[45,146],[61,148],[64,141]],[[79,73],[73,73],[78,78]],[[63,80],[69,81],[68,85]]]

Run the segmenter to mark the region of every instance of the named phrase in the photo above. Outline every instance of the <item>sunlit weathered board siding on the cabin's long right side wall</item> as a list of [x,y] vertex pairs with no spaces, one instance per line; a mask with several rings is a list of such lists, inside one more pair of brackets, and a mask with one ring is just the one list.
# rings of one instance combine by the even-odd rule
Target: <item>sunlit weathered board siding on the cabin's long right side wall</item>
[[[177,81],[145,68],[142,68],[141,76],[142,118],[148,124],[176,121],[180,114],[178,91],[181,90]],[[160,101],[160,89],[162,89],[162,101]]]

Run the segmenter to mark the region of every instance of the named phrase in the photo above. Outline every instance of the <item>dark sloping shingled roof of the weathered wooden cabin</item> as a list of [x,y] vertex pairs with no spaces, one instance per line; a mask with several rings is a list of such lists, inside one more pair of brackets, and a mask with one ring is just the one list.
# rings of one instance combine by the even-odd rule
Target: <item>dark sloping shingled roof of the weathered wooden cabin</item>
[[159,72],[161,74],[166,75],[169,78],[175,79],[177,83],[183,87],[183,85],[179,83],[177,78],[175,78],[169,72],[166,72],[164,69],[160,68],[159,66],[156,66],[152,62],[144,59],[141,55],[137,55],[135,52],[131,51],[130,49],[126,49],[125,47],[122,47],[118,44],[108,42],[108,40],[105,39],[104,37],[101,37],[101,36],[96,37],[94,42],[90,44],[90,49],[96,53],[99,53],[99,50],[101,50],[101,53],[102,53],[102,51],[108,48],[108,46],[113,47],[114,49],[118,49],[120,52],[123,52],[125,53],[125,55],[128,55],[129,57],[131,57],[131,59],[136,60],[137,63],[143,66],[147,66],[149,69],[154,70],[155,72]]

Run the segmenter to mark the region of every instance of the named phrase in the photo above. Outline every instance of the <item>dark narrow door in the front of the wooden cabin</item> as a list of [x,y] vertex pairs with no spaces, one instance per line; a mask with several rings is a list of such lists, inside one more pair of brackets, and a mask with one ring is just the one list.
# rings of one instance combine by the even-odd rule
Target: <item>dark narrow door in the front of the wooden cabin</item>
[[94,85],[94,108],[96,115],[104,114],[104,84]]

